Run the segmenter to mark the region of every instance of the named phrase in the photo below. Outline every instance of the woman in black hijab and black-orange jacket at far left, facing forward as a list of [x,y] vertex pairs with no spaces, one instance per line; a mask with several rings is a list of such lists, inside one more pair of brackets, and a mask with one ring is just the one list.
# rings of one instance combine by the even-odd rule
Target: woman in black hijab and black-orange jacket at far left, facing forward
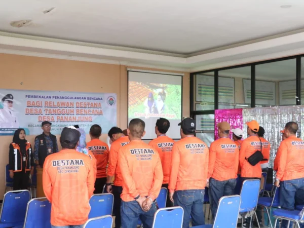
[[10,144],[9,166],[14,190],[27,189],[29,175],[34,173],[34,157],[31,144],[25,139],[24,129],[15,131]]

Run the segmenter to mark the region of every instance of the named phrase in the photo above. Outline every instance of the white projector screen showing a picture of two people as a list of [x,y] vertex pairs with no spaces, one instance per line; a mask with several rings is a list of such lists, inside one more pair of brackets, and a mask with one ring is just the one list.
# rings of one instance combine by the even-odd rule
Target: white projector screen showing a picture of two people
[[145,140],[156,138],[159,118],[170,121],[167,136],[180,138],[182,76],[128,71],[128,123],[134,118],[145,122]]

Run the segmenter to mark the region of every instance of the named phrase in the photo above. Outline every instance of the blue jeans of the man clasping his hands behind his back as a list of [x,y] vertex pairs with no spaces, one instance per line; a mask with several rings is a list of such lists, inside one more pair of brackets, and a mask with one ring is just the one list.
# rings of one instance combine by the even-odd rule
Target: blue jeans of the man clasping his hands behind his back
[[157,211],[156,204],[153,203],[150,210],[145,212],[134,200],[121,203],[122,228],[136,228],[140,218],[143,228],[151,228],[153,225],[154,214]]

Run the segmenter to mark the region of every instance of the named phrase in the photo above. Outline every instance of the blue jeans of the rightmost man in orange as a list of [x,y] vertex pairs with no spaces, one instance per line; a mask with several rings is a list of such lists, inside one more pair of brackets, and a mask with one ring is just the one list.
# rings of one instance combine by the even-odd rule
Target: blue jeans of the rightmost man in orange
[[[295,194],[298,191],[304,190],[304,178],[298,178],[293,180],[284,180],[280,183],[280,204],[284,209],[294,210],[295,207]],[[292,227],[290,222],[290,226]],[[282,221],[282,228],[287,228],[288,221]],[[301,227],[304,227],[304,224],[301,223]]]

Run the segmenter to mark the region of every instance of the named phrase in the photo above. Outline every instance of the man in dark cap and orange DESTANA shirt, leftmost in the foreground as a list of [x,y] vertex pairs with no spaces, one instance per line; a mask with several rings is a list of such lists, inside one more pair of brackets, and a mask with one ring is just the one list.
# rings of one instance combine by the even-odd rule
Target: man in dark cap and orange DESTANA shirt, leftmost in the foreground
[[52,203],[53,228],[82,228],[91,210],[89,200],[94,191],[94,170],[89,156],[75,150],[80,132],[64,128],[62,150],[49,155],[43,167],[43,189]]

